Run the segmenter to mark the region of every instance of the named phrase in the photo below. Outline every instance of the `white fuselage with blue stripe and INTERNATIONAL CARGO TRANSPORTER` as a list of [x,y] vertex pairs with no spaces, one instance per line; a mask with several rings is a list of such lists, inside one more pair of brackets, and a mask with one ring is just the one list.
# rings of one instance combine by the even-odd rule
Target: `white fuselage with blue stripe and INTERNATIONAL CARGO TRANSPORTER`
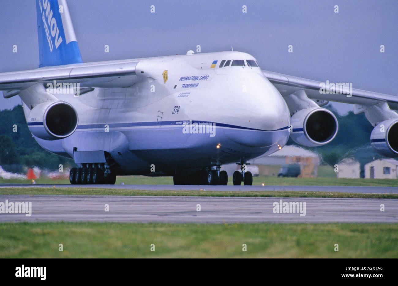
[[106,151],[121,166],[120,174],[144,175],[151,165],[170,175],[176,168],[279,150],[289,138],[290,113],[283,97],[259,67],[245,62],[219,68],[222,60],[255,58],[219,52],[135,59],[135,75],[125,84],[130,87],[96,88],[79,97],[55,94],[76,109],[78,128],[64,139],[36,140],[71,158],[74,150]]

